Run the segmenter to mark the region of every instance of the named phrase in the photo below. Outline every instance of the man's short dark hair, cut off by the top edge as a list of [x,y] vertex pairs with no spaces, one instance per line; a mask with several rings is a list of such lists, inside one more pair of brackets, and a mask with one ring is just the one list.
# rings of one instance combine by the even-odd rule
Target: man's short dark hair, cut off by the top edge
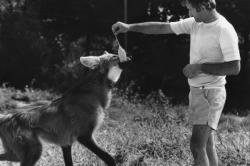
[[204,6],[207,10],[213,10],[216,8],[215,0],[187,0],[196,10],[200,10],[201,6]]

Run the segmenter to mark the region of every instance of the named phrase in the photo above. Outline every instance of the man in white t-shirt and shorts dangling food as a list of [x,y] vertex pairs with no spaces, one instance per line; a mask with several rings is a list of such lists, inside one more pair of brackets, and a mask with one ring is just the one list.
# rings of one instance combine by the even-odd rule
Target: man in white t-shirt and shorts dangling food
[[214,132],[226,100],[226,75],[240,72],[238,37],[216,10],[215,0],[187,0],[190,18],[178,22],[144,22],[112,26],[116,33],[190,34],[190,64],[183,69],[190,85],[190,148],[195,166],[218,166]]

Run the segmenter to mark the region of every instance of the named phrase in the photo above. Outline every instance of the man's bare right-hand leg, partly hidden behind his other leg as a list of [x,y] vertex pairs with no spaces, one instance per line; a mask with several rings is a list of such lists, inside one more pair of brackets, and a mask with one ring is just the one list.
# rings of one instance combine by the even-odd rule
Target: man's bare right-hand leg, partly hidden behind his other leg
[[207,142],[207,155],[209,159],[210,166],[218,166],[218,156],[216,153],[215,141],[214,141],[214,131],[211,132],[208,142]]

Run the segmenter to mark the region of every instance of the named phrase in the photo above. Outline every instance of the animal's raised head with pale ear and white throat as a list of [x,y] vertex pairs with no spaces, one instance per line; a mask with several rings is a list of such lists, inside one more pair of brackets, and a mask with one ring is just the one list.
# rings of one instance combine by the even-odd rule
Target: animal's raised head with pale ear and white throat
[[116,54],[104,52],[101,56],[80,57],[80,62],[85,67],[107,74],[108,79],[117,82],[122,70],[119,68],[121,58]]

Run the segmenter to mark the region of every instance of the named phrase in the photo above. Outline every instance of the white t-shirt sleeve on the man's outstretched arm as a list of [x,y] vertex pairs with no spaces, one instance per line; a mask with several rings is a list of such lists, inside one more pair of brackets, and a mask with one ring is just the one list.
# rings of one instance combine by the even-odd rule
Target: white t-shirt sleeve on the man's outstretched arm
[[190,17],[177,22],[171,22],[170,27],[173,30],[173,32],[177,35],[190,34],[194,22],[195,22],[194,18]]

